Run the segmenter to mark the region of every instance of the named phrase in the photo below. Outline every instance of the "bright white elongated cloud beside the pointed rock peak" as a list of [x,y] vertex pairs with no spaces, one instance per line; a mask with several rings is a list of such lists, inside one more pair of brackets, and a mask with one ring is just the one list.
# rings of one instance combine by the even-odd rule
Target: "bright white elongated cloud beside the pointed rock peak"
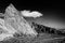
[[40,17],[42,16],[41,13],[37,12],[37,11],[34,11],[34,12],[30,12],[30,11],[22,11],[21,12],[23,16],[25,17]]

